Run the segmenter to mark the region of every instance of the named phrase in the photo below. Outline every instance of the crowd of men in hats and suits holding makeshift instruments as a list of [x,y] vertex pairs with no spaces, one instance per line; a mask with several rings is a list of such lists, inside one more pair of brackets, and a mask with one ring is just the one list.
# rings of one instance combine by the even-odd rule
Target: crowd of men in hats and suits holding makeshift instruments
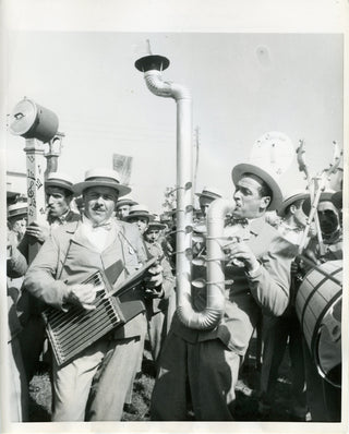
[[[233,421],[236,388],[256,328],[261,419],[272,420],[278,369],[288,347],[291,420],[340,421],[340,381],[338,387],[318,372],[296,312],[296,297],[313,267],[342,260],[341,191],[321,194],[316,227],[308,219],[312,207],[308,191],[284,197],[277,178],[251,164],[234,166],[231,177],[234,209],[226,216],[221,241],[225,312],[209,329],[188,327],[176,313],[176,210],[152,214],[129,195],[131,189],[113,170],[89,170],[79,183],[61,172],[49,173],[45,225],[26,224],[26,202],[8,206],[13,421],[29,420],[28,384],[43,358],[49,361],[52,421],[121,420],[132,406],[145,339],[157,371],[152,420],[184,421],[191,410],[197,421]],[[221,194],[204,188],[197,196],[192,250],[194,257],[205,257],[205,218]],[[305,249],[300,252],[304,232]],[[206,266],[193,262],[193,278],[204,278]],[[48,306],[93,313],[97,289],[85,281],[96,272],[108,274],[112,288],[123,288],[137,274],[139,284],[124,290],[119,301],[121,309],[123,302],[141,308],[60,364],[41,313]],[[205,286],[192,287],[191,303],[195,311],[205,309]],[[340,371],[340,349],[328,357]]]

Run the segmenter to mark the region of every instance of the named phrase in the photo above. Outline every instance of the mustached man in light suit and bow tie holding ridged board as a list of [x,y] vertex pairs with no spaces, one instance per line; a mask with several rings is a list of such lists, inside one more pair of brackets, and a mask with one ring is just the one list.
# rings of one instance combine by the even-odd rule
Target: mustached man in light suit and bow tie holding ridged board
[[[96,290],[93,285],[82,284],[87,277],[112,266],[116,286],[146,262],[139,231],[113,217],[119,196],[129,191],[120,184],[118,173],[108,169],[89,170],[85,181],[74,185],[75,194],[83,194],[84,215],[80,221],[52,231],[35,257],[25,277],[35,297],[62,311],[70,305],[91,311],[95,309]],[[149,285],[160,287],[160,267],[151,268],[149,274]],[[142,288],[129,296],[130,301],[142,301],[144,297]],[[52,420],[120,420],[145,330],[142,311],[68,364],[58,366],[53,360]],[[96,374],[98,381],[86,408]]]

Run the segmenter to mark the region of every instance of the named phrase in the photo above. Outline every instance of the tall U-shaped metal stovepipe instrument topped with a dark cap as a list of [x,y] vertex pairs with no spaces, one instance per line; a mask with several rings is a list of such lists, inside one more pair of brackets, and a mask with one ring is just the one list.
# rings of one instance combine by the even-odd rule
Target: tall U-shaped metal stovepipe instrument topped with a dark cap
[[[158,64],[156,65],[156,61]],[[192,99],[188,88],[161,79],[163,57],[148,56],[140,59],[135,67],[144,72],[148,89],[177,103],[177,313],[180,321],[190,328],[208,329],[220,321],[225,305],[224,258],[219,240],[224,229],[224,217],[232,209],[228,201],[215,201],[207,216],[207,306],[195,312],[191,302],[191,255],[192,255]],[[169,63],[169,62],[168,62]],[[167,63],[167,65],[168,65]],[[151,65],[151,67],[149,67]],[[166,67],[167,68],[167,67]]]

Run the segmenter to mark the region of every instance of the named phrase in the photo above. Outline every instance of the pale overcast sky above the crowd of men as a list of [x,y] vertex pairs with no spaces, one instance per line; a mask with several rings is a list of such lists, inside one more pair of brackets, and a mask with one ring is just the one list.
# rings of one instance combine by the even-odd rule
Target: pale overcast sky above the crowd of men
[[[111,168],[113,153],[132,156],[132,195],[157,213],[176,183],[176,103],[153,95],[134,68],[146,39],[171,62],[164,79],[192,93],[196,191],[231,196],[231,168],[266,132],[286,134],[294,157],[304,138],[311,173],[328,166],[334,140],[342,146],[340,35],[13,32],[8,112],[24,96],[55,111],[65,134],[59,170],[76,181]],[[7,134],[8,170],[25,171],[23,145]],[[286,193],[305,185],[287,160]]]

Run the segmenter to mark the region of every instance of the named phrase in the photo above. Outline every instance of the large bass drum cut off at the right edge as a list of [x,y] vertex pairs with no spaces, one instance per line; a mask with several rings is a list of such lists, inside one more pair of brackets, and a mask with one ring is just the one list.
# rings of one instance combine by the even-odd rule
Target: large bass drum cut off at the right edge
[[311,269],[296,297],[296,312],[320,375],[341,387],[342,261]]

